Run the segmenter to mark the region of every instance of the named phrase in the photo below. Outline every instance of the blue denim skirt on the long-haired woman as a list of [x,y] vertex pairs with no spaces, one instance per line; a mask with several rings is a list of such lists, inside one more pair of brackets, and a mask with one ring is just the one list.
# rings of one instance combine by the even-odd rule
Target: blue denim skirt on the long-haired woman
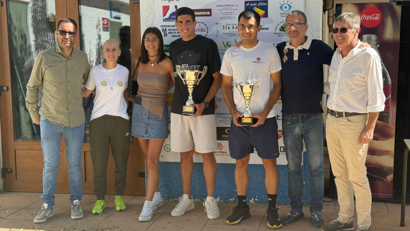
[[158,119],[142,105],[134,104],[131,120],[131,134],[142,139],[168,138],[168,107],[163,106],[162,118]]

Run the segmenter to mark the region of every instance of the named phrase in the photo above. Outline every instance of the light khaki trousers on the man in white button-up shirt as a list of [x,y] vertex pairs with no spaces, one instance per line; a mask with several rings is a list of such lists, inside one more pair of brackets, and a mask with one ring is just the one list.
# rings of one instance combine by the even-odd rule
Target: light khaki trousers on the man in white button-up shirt
[[367,124],[367,114],[336,118],[328,114],[326,141],[337,187],[340,205],[338,220],[353,220],[356,197],[357,225],[371,225],[372,194],[367,179],[366,162],[368,144],[360,144],[360,134]]

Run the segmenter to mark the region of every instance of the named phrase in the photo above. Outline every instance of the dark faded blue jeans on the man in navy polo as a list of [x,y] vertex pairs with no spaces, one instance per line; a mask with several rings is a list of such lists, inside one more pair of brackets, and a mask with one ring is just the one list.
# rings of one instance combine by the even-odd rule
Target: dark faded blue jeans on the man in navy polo
[[302,211],[302,150],[303,141],[308,154],[310,172],[311,213],[323,208],[323,116],[317,114],[282,113],[283,142],[288,160],[289,198],[292,210]]

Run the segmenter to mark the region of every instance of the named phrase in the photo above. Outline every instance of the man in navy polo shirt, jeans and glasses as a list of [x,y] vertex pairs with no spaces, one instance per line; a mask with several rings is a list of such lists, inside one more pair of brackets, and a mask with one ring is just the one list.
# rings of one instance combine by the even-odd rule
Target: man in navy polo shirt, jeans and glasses
[[[286,17],[288,42],[276,46],[282,66],[282,129],[288,160],[291,211],[282,220],[290,225],[302,218],[303,141],[310,172],[310,211],[313,227],[323,226],[323,64],[330,65],[333,49],[320,40],[305,36],[306,15],[299,10]],[[364,46],[366,46],[365,44]]]

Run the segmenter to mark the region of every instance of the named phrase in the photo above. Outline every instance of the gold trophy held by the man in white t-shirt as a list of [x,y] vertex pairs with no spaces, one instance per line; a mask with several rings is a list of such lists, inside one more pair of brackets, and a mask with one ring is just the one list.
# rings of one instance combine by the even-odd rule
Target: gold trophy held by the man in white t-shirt
[[[251,117],[252,111],[251,108],[249,107],[249,104],[251,103],[251,97],[255,94],[255,92],[259,89],[260,84],[261,84],[261,79],[258,80],[258,83],[249,80],[247,82],[240,82],[236,83],[236,80],[234,79],[234,85],[236,89],[240,92],[240,94],[245,98],[245,111],[243,112],[243,117],[239,117],[239,124],[240,125],[254,125],[256,122],[258,122],[258,118],[256,117]],[[238,87],[239,86],[239,87]],[[257,87],[255,87],[257,86]]]

